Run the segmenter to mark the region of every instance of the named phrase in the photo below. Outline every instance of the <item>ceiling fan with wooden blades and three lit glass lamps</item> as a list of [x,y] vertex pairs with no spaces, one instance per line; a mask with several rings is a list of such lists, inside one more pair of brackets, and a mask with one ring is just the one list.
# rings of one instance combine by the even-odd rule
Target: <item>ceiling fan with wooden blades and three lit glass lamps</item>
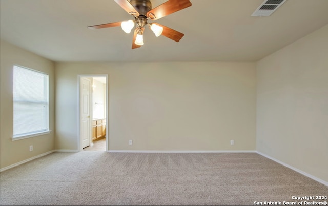
[[158,23],[148,23],[147,20],[157,20],[174,12],[180,11],[191,6],[190,0],[169,0],[154,9],[150,0],[115,0],[126,12],[134,16],[134,20],[114,22],[108,24],[100,24],[89,26],[90,29],[101,29],[108,27],[121,26],[123,31],[130,33],[133,27],[136,27],[133,34],[132,49],[136,49],[144,45],[144,30],[148,25],[156,36],[166,36],[176,42],[183,37],[183,35],[174,29],[160,25]]

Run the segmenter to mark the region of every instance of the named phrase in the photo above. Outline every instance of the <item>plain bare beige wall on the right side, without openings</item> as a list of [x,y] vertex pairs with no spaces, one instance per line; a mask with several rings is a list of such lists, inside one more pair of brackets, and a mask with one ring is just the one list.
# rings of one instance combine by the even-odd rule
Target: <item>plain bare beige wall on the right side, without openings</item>
[[328,25],[257,64],[257,151],[328,181]]

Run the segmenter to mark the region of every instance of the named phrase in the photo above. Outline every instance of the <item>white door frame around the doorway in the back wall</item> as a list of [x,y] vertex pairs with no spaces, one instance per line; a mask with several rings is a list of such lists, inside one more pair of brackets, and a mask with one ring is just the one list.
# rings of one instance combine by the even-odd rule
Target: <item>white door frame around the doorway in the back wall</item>
[[[109,84],[108,84],[108,74],[78,74],[77,75],[77,114],[78,114],[78,118],[77,118],[77,149],[78,151],[83,151],[82,148],[82,136],[81,136],[81,124],[82,124],[82,120],[81,120],[81,82],[82,82],[82,78],[92,78],[92,77],[105,77],[106,78],[106,152],[108,151],[108,133],[109,133],[109,108],[108,108],[108,91],[109,91]],[[90,95],[90,101],[92,102],[92,94]],[[90,116],[92,117],[92,104],[89,104],[89,109],[90,109]],[[90,145],[92,143],[92,118],[90,120]]]

